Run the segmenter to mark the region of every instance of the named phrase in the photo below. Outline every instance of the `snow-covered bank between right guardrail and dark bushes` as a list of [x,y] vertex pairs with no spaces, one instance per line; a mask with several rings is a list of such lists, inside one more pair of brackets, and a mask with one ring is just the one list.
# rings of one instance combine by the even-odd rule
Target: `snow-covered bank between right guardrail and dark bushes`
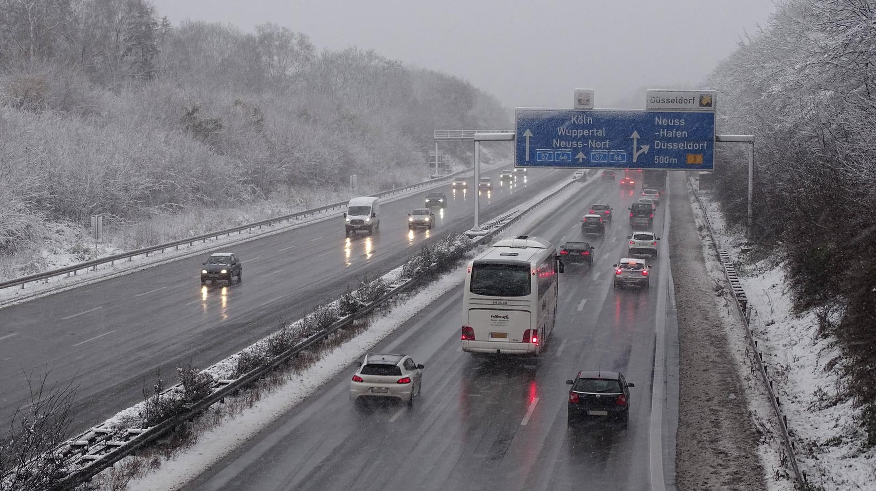
[[[740,256],[744,234],[726,226],[710,193],[699,194],[716,242],[737,266],[752,307],[752,332],[774,378],[774,392],[788,417],[798,463],[811,488],[876,491],[876,449],[865,447],[866,435],[853,402],[839,397],[844,380],[834,362],[841,355],[835,340],[819,335],[815,312],[793,312],[780,259],[769,257],[752,264]],[[772,451],[762,448],[761,452]],[[772,477],[771,489],[788,489],[788,480]]]

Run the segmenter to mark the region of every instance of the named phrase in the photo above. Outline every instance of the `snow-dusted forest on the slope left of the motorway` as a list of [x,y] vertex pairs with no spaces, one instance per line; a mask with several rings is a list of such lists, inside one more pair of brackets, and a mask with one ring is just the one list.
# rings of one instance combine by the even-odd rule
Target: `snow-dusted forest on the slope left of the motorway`
[[41,269],[46,242],[92,214],[135,249],[341,200],[350,174],[363,193],[419,182],[433,130],[510,124],[467,81],[279,25],[2,0],[0,263]]

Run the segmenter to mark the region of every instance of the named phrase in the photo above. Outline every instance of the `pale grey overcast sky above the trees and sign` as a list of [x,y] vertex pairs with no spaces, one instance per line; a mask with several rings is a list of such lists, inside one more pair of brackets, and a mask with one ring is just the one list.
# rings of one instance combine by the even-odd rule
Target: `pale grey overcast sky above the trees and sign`
[[509,107],[644,108],[646,88],[695,88],[772,0],[153,0],[174,25],[272,22],[318,49],[358,46],[453,74]]

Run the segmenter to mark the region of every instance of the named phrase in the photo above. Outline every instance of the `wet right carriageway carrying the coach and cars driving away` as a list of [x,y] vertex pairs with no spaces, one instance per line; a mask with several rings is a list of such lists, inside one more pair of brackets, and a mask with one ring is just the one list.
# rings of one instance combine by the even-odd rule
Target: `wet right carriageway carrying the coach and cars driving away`
[[[625,256],[631,231],[626,207],[639,192],[634,197],[617,182],[597,183],[530,231],[559,245],[581,237],[580,220],[591,203],[608,202],[617,215],[604,237],[592,241],[593,266],[568,265],[560,275],[557,324],[539,359],[463,353],[460,287],[374,350],[410,354],[426,365],[412,409],[403,403],[354,407],[350,366],[184,489],[650,491],[661,471],[671,481],[677,414],[662,403],[652,407],[658,328],[666,331],[667,365],[677,367],[668,250],[653,260],[650,289],[612,287],[611,264]],[[667,209],[662,203],[654,221],[663,246]],[[578,370],[598,368],[621,371],[635,383],[626,430],[567,427],[564,382]],[[669,392],[677,394],[677,378],[668,378]],[[652,413],[658,415],[653,427]]]

